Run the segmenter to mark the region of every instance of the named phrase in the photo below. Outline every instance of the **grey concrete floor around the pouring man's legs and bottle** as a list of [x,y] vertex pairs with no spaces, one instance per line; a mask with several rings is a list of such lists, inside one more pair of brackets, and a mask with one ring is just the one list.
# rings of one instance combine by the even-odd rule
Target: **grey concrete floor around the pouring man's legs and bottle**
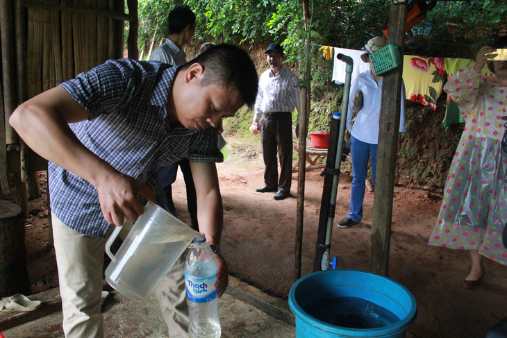
[[[249,294],[249,298],[256,300],[257,306],[262,304],[258,307],[264,307],[271,313],[251,305],[251,299],[242,300],[232,294],[240,297],[241,294]],[[231,278],[230,290],[222,296],[219,303],[222,338],[296,337],[294,326],[286,322],[287,319],[291,321],[291,316],[284,303],[286,304]],[[167,337],[165,322],[153,296],[147,301],[137,302],[112,291],[103,305],[103,316],[105,337]],[[58,310],[8,330],[1,330],[0,327],[0,331],[6,338],[60,338],[63,337],[61,323],[62,312]]]

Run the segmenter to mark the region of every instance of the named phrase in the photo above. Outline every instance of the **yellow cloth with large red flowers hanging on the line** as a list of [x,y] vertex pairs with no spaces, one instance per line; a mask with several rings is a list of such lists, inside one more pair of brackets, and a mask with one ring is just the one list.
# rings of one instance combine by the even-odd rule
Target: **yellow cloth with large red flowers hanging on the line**
[[437,99],[442,94],[444,76],[444,58],[404,56],[403,81],[408,100],[437,110]]

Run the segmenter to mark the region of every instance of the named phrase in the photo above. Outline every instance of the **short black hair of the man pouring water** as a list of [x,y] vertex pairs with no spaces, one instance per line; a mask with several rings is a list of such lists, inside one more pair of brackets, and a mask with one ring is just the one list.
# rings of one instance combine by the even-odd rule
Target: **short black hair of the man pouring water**
[[204,67],[203,85],[233,85],[244,103],[253,108],[258,90],[258,76],[253,61],[244,49],[233,44],[217,44],[182,65],[180,69],[187,69],[194,63]]

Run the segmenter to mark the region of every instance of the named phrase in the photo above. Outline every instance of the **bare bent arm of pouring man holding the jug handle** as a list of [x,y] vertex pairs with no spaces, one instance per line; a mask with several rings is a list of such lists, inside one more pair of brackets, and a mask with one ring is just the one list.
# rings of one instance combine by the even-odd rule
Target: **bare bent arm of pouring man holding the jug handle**
[[122,225],[124,216],[135,221],[144,211],[137,194],[153,199],[153,192],[119,173],[78,140],[68,124],[88,117],[88,111],[63,87],[55,87],[20,105],[9,123],[35,153],[97,187],[108,223]]

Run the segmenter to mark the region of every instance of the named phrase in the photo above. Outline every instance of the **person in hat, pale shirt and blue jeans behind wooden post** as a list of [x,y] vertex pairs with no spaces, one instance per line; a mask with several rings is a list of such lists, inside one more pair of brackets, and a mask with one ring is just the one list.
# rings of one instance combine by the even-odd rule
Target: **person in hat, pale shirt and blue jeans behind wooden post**
[[[379,143],[379,118],[382,99],[382,76],[375,74],[369,54],[385,46],[384,37],[374,37],[363,47],[366,52],[361,60],[369,62],[370,70],[354,78],[350,88],[349,102],[354,102],[356,92],[363,92],[363,107],[360,108],[354,125],[351,119],[354,105],[349,104],[347,112],[347,129],[351,136],[352,187],[350,194],[350,213],[338,223],[339,228],[354,226],[363,218],[363,200],[365,198],[365,182],[368,172],[368,158],[372,156],[373,185],[375,185],[376,149]],[[399,132],[405,132],[405,86],[401,89],[401,108]]]

